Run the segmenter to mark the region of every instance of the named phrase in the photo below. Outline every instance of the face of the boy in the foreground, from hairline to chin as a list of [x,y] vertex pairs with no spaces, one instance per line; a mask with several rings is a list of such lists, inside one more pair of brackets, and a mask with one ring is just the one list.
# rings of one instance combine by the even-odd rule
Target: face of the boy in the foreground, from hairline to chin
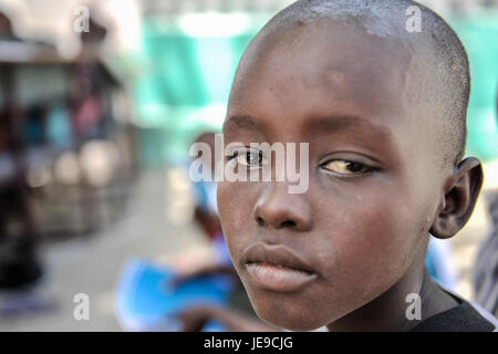
[[423,63],[396,40],[355,25],[297,29],[245,54],[224,134],[225,144],[246,146],[309,143],[309,188],[222,181],[218,206],[259,316],[311,330],[422,264],[444,174],[430,117],[411,88],[424,79]]

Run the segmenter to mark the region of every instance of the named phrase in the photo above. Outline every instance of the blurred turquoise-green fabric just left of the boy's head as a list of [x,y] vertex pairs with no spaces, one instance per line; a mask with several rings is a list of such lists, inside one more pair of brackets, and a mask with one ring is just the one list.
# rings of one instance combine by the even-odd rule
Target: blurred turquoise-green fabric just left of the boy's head
[[176,163],[195,134],[221,127],[238,61],[253,33],[191,38],[153,21],[143,33],[145,64],[134,85],[138,124],[166,135],[164,158]]

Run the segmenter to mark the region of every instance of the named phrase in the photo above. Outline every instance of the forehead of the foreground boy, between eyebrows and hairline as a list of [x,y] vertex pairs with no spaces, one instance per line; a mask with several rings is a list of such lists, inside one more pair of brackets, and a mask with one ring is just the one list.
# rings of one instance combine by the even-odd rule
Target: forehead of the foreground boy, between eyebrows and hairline
[[400,116],[416,67],[401,39],[334,21],[295,24],[247,50],[228,116]]

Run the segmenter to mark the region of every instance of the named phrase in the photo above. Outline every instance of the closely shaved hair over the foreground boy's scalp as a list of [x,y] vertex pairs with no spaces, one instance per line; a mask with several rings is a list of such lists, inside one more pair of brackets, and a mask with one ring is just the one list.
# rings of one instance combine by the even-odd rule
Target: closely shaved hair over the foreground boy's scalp
[[[405,30],[406,10],[411,6],[421,9],[421,33]],[[289,33],[298,37],[299,30],[288,31],[295,24],[326,19],[356,23],[372,35],[394,38],[407,46],[427,71],[422,73],[424,77],[413,82],[408,94],[413,95],[415,105],[419,105],[419,113],[424,107],[427,110],[424,114],[430,114],[436,128],[435,152],[442,153],[438,157],[443,157],[443,164],[457,164],[465,155],[469,63],[460,40],[445,20],[409,0],[301,0],[274,15],[251,42],[250,46],[255,48],[249,48],[247,54],[288,40]],[[252,55],[248,56],[253,60]]]

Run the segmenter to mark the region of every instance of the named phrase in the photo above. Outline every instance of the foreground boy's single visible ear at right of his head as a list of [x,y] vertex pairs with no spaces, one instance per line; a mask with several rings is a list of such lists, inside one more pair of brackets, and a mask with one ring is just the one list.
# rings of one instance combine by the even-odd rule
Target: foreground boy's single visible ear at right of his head
[[483,166],[475,157],[458,164],[448,179],[446,194],[429,232],[447,239],[457,233],[468,221],[483,187]]

